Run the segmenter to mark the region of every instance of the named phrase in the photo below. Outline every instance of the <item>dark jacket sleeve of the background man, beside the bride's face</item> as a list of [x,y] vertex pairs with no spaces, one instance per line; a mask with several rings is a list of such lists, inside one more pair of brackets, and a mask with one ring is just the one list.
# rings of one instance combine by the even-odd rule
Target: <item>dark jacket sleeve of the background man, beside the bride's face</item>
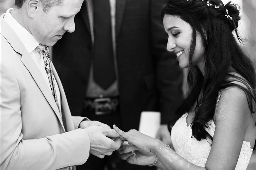
[[166,0],[151,0],[151,44],[156,58],[156,87],[161,112],[161,124],[175,119],[173,104],[182,96],[182,70],[176,55],[166,50],[167,34],[161,19],[161,9]]

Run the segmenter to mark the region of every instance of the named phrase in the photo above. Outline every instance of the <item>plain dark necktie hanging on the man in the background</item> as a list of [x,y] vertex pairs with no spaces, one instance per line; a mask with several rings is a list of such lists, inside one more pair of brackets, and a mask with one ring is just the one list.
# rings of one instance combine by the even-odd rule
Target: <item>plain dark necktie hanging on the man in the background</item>
[[109,0],[93,0],[93,8],[93,79],[106,90],[116,80]]

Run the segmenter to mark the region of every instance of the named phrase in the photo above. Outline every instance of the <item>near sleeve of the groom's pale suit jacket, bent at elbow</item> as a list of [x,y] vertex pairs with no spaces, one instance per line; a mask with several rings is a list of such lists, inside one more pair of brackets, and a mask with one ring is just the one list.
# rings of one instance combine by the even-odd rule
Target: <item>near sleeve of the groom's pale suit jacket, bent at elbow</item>
[[12,70],[3,62],[0,64],[0,169],[58,169],[83,164],[90,150],[89,137],[83,129],[22,139],[19,84]]

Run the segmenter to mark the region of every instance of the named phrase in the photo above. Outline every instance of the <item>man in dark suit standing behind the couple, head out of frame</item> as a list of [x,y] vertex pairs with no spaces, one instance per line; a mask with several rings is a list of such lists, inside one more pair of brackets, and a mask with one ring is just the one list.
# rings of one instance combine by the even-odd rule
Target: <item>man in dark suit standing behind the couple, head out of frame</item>
[[[165,0],[86,0],[76,15],[76,31],[53,48],[73,115],[128,131],[138,129],[142,111],[160,111],[158,136],[167,131],[172,103],[182,98],[182,71],[166,51],[160,11]],[[169,115],[171,113],[171,115]],[[91,156],[77,169],[148,169],[113,157]],[[89,163],[92,161],[92,163]]]

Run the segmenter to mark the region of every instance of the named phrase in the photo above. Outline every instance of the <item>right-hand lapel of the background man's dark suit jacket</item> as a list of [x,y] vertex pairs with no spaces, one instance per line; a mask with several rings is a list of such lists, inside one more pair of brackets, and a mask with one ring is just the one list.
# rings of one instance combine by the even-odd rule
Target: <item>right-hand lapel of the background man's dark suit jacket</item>
[[126,0],[116,0],[116,36],[120,32]]

